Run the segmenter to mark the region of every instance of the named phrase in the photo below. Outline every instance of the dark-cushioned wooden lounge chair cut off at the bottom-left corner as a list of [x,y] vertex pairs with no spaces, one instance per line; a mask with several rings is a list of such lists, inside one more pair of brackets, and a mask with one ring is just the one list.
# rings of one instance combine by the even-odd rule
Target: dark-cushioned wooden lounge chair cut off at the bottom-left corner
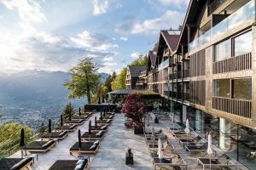
[[0,160],[1,170],[27,170],[32,169],[32,157],[26,158],[3,158]]

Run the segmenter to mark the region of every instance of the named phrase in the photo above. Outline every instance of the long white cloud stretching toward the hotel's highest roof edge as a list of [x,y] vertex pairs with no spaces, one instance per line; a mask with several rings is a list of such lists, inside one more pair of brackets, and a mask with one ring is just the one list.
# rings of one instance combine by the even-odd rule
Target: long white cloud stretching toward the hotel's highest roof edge
[[183,24],[183,13],[167,10],[159,18],[142,21],[131,21],[119,24],[115,31],[120,34],[156,34],[163,29],[177,29]]

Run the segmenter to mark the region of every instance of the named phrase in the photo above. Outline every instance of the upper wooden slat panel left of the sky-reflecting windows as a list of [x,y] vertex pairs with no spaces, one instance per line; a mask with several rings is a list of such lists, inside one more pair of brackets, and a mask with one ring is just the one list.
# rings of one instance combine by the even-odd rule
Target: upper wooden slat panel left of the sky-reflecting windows
[[203,49],[190,56],[190,77],[206,75],[206,50]]

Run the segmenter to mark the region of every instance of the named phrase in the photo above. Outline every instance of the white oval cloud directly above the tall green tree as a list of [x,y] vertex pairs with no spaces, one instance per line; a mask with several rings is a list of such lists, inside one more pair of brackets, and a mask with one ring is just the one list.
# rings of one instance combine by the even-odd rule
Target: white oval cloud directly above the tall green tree
[[94,50],[108,50],[110,48],[119,47],[117,44],[113,44],[113,42],[109,41],[108,38],[103,37],[101,34],[90,33],[89,31],[84,31],[77,37],[71,37],[70,39],[81,47]]

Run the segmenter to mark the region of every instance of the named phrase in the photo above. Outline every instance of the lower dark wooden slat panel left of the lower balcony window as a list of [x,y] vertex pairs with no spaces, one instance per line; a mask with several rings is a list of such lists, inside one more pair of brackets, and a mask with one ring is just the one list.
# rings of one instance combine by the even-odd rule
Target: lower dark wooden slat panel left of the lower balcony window
[[189,83],[191,89],[190,102],[197,105],[205,105],[206,81],[194,81]]

